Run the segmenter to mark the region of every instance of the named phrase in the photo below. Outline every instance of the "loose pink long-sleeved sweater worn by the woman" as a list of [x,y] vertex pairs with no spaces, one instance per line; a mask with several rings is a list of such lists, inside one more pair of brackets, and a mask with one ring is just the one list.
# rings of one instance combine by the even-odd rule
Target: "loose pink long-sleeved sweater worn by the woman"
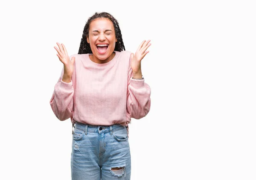
[[151,88],[144,79],[133,79],[129,51],[114,51],[115,57],[97,64],[89,54],[75,54],[70,83],[61,77],[54,87],[50,105],[63,121],[90,125],[128,125],[131,118],[140,119],[150,110]]

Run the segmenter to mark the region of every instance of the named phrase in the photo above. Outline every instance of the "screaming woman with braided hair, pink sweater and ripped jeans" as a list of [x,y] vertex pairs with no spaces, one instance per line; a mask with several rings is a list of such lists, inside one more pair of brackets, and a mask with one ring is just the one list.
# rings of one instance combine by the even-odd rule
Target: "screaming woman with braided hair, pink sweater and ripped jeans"
[[128,124],[150,110],[141,60],[151,44],[143,41],[135,54],[125,51],[117,20],[102,12],[87,20],[78,54],[69,57],[64,44],[57,45],[64,68],[50,105],[59,120],[75,124],[72,179],[129,180]]

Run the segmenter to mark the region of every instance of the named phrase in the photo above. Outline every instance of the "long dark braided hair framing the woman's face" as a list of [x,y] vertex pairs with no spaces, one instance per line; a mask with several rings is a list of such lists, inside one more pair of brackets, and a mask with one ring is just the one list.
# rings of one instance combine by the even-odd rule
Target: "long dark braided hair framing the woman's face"
[[84,26],[84,31],[83,31],[83,35],[81,38],[81,43],[80,43],[78,54],[87,54],[87,53],[92,54],[93,53],[90,48],[90,44],[87,43],[87,41],[86,41],[86,37],[89,36],[89,27],[90,27],[90,23],[92,22],[92,20],[94,20],[96,18],[102,18],[102,17],[108,18],[109,20],[111,20],[111,22],[114,25],[116,39],[117,39],[114,51],[121,52],[122,50],[125,50],[125,45],[122,40],[122,34],[121,34],[121,30],[119,28],[118,21],[111,14],[109,14],[107,12],[101,12],[101,13],[96,12],[92,17],[89,17],[89,19],[87,20],[87,22]]

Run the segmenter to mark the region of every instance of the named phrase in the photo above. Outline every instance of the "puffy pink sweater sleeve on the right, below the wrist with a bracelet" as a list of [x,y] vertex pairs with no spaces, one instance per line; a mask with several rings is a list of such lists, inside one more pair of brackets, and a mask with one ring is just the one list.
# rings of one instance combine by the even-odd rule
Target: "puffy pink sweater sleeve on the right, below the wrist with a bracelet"
[[128,87],[127,87],[127,115],[134,119],[145,117],[151,105],[151,88],[145,83],[145,79],[133,79],[131,69],[131,59],[129,62]]

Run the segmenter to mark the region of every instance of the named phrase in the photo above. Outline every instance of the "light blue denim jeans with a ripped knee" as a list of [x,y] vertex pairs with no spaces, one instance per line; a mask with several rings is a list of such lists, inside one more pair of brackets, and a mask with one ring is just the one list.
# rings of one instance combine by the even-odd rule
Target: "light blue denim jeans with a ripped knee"
[[72,180],[130,180],[131,155],[126,127],[76,122],[71,176]]

